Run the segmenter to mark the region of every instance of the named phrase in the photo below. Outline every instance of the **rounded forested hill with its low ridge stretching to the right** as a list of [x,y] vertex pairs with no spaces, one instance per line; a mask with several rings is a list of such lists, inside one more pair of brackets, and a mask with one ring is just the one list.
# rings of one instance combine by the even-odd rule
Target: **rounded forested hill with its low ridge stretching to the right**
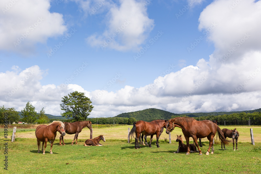
[[246,113],[253,113],[253,112],[261,112],[261,108],[255,109],[255,110],[250,110],[250,111],[233,111],[233,112],[198,112],[198,113],[182,113],[182,114],[177,114],[177,113],[172,113],[160,109],[155,109],[155,108],[150,108],[150,109],[145,109],[141,111],[135,111],[135,112],[126,112],[126,113],[121,113],[117,115],[116,117],[125,117],[125,118],[130,118],[134,117],[137,120],[144,120],[144,121],[152,121],[155,119],[170,119],[171,116],[181,116],[181,115],[186,115],[188,117],[202,117],[202,116],[208,116],[208,115],[224,115],[224,114],[232,114],[232,113],[241,113],[241,112],[246,112]]

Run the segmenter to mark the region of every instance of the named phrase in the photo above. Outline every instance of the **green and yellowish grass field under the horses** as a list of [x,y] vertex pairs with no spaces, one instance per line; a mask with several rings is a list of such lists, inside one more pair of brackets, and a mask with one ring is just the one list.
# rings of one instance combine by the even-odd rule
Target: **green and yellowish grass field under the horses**
[[[100,141],[104,146],[83,146],[84,141],[90,138],[88,129],[79,134],[78,145],[73,146],[69,145],[72,138],[67,135],[64,136],[66,145],[59,146],[57,135],[52,148],[54,154],[49,154],[48,143],[45,155],[37,153],[35,129],[18,129],[15,142],[8,142],[8,171],[3,169],[4,149],[0,150],[0,173],[261,173],[260,127],[251,127],[255,146],[251,144],[250,127],[237,127],[240,133],[239,150],[234,151],[233,144],[230,143],[226,146],[227,150],[222,151],[218,140],[214,145],[215,152],[211,155],[205,155],[209,142],[204,139],[201,148],[203,155],[174,154],[178,147],[176,134],[182,134],[179,128],[172,132],[171,144],[166,142],[168,135],[164,129],[159,141],[160,148],[156,147],[154,136],[152,148],[141,145],[140,149],[134,149],[133,139],[127,143],[128,127],[132,128],[117,126],[94,129],[93,137],[104,135],[106,142]],[[8,130],[8,135],[11,133],[12,130]],[[3,129],[0,129],[2,146],[3,137]]]

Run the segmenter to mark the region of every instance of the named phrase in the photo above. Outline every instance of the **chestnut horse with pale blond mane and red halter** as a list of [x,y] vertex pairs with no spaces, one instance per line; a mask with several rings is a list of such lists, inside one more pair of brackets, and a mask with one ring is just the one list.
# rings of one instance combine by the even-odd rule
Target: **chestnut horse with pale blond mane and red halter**
[[[64,131],[64,124],[61,121],[53,121],[49,125],[39,125],[35,129],[35,136],[37,138],[37,145],[38,145],[38,153],[40,153],[40,141],[43,142],[42,152],[45,154],[45,148],[47,146],[47,141],[51,142],[51,150],[50,154],[52,154],[52,145],[54,143],[57,131],[64,136],[66,133]],[[44,145],[45,143],[45,145]],[[43,149],[44,148],[44,149]]]

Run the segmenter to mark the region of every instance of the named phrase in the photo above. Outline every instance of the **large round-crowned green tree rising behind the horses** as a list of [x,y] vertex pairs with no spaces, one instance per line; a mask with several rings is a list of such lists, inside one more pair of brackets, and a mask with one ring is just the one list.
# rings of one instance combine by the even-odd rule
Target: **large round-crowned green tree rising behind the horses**
[[93,109],[91,100],[83,92],[72,92],[62,97],[61,116],[73,118],[75,121],[85,121]]

